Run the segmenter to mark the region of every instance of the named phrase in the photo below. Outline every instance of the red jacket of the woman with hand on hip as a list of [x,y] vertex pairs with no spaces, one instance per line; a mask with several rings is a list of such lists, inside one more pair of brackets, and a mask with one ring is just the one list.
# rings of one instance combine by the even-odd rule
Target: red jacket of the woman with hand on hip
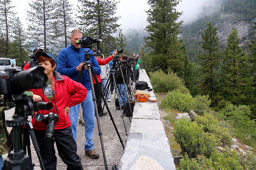
[[[64,108],[77,105],[84,101],[87,96],[87,89],[78,82],[70,79],[67,76],[61,76],[58,72],[54,72],[55,77],[55,101],[58,108],[58,122],[55,123],[55,129],[64,129],[71,126],[69,116],[65,116]],[[41,96],[44,102],[49,102],[49,99],[43,94],[43,89],[32,89],[33,94]],[[43,97],[44,96],[44,97]],[[49,112],[57,113],[54,97],[52,97],[53,108],[51,111],[38,111],[38,113],[48,114]],[[47,124],[44,121],[37,122],[35,116],[32,119],[32,125],[36,130],[46,130]]]

